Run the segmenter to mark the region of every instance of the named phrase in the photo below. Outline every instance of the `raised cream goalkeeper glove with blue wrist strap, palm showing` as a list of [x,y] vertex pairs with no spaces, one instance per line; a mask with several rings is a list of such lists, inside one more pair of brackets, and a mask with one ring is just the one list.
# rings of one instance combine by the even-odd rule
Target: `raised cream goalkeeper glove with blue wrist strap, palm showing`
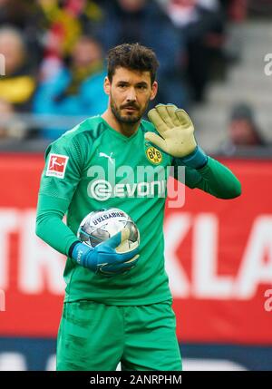
[[160,135],[146,132],[146,141],[192,168],[198,169],[207,163],[207,155],[197,145],[194,126],[187,112],[174,104],[158,104],[148,116]]

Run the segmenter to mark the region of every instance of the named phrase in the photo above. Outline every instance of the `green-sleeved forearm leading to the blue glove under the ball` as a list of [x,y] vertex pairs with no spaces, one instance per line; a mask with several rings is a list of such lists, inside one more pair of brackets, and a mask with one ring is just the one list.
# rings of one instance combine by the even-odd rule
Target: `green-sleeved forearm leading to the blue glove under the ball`
[[37,207],[36,234],[52,248],[68,255],[69,248],[78,240],[63,223],[68,202],[46,195],[40,195]]

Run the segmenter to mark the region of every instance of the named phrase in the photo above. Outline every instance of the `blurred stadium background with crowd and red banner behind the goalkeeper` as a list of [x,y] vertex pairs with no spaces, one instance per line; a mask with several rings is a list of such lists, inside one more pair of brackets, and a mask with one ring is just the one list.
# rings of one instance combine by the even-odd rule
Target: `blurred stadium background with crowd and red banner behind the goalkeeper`
[[34,236],[44,149],[105,109],[123,42],[156,51],[156,102],[188,110],[243,187],[166,212],[184,369],[272,370],[271,17],[271,0],[0,0],[0,370],[54,369],[64,258]]

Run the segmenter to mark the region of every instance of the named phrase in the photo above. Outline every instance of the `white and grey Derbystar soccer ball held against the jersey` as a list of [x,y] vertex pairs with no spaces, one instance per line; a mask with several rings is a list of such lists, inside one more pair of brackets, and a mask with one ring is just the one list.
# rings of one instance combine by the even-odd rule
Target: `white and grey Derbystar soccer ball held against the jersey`
[[77,237],[87,246],[94,248],[124,227],[130,230],[130,236],[121,242],[116,251],[130,252],[139,246],[140,232],[130,216],[118,208],[94,210],[89,213],[81,222]]

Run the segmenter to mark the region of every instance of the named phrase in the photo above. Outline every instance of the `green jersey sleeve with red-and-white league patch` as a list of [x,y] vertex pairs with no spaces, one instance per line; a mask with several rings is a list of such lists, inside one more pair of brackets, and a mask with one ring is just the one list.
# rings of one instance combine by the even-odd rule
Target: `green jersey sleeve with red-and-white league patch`
[[78,240],[63,222],[74,191],[81,180],[83,148],[72,139],[60,138],[45,151],[45,166],[39,190],[36,234],[57,251],[68,255]]

